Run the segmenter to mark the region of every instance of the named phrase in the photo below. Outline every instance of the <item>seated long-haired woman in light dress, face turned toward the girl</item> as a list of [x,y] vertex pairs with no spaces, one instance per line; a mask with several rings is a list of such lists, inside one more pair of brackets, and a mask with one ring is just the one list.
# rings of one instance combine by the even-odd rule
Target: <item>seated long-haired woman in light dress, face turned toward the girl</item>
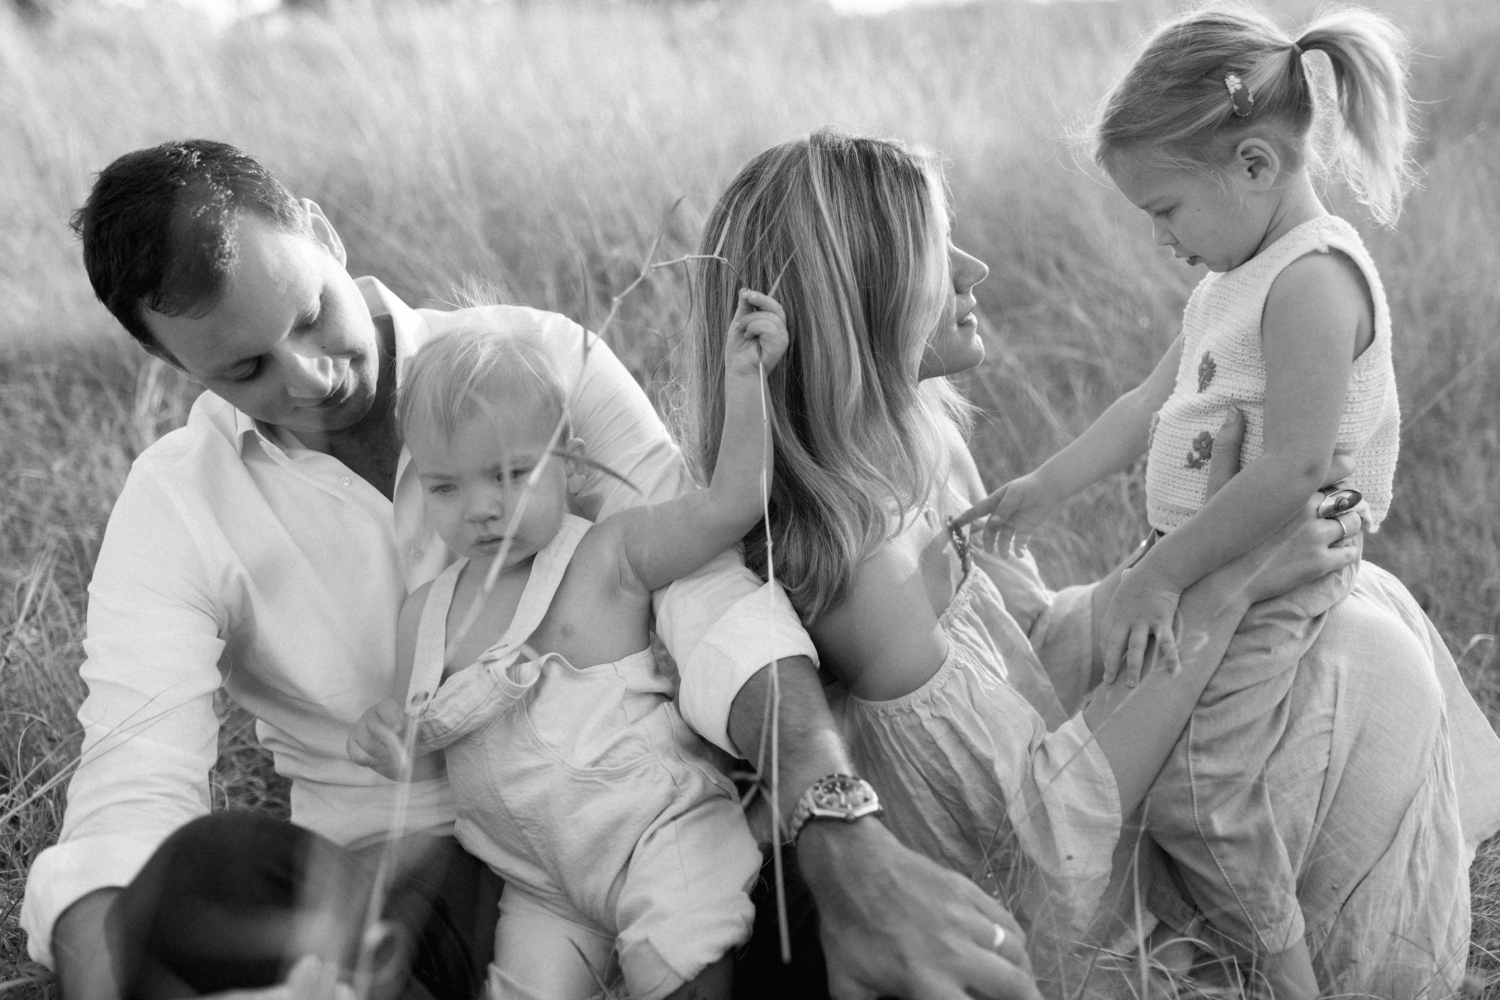
[[[1185,592],[1176,675],[1098,685],[1118,574],[1053,595],[1029,561],[970,552],[946,526],[986,495],[945,376],[982,360],[972,289],[987,268],[948,243],[932,157],[828,130],[783,144],[729,184],[702,246],[723,259],[700,273],[692,343],[704,474],[720,331],[741,286],[774,289],[790,346],[768,379],[770,526],[747,535],[747,559],[766,574],[776,553],[885,822],[1016,907],[1044,978],[1072,996],[1090,966],[1068,949],[1131,924],[1125,817],[1148,792],[1172,799],[1152,783],[1245,609],[1352,564],[1358,546],[1334,544],[1352,525],[1318,523],[1310,501]],[[1324,991],[1442,991],[1462,973],[1473,846],[1500,823],[1473,781],[1500,775],[1500,741],[1400,583],[1365,568],[1344,604],[1286,702],[1268,771],[1278,832],[1299,855]],[[1455,748],[1472,771],[1455,772]],[[1149,879],[1148,901],[1192,931],[1168,876]]]

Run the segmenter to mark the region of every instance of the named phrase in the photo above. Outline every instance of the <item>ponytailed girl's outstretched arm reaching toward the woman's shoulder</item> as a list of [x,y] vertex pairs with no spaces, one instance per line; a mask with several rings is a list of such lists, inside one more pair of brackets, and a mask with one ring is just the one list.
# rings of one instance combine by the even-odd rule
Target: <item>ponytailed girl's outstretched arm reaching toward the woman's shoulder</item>
[[1011,535],[1029,535],[1068,498],[1110,472],[1130,468],[1146,450],[1150,420],[1172,394],[1180,360],[1179,336],[1144,382],[1110,403],[1088,430],[1042,462],[1035,472],[1011,480],[964,511],[957,525],[962,528],[970,520],[988,517],[984,544],[1008,544]]

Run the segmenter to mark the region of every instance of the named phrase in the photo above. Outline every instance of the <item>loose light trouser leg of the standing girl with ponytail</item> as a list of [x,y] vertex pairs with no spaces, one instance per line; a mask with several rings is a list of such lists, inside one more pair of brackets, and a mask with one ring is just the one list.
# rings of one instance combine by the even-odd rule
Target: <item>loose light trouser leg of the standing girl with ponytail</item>
[[1350,567],[1251,609],[1148,802],[1148,828],[1216,937],[1278,982],[1278,996],[1311,997],[1316,984],[1266,762],[1286,729],[1298,663],[1356,573]]

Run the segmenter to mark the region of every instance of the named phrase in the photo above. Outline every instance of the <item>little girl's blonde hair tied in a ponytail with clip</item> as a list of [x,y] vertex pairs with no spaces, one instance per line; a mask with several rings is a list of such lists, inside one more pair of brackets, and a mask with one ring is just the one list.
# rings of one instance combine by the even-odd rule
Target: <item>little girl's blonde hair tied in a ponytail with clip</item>
[[[1108,169],[1114,156],[1136,153],[1168,166],[1216,166],[1240,139],[1260,135],[1293,169],[1308,159],[1318,165],[1308,133],[1322,109],[1302,63],[1312,51],[1332,63],[1342,126],[1322,165],[1377,222],[1394,223],[1413,178],[1407,46],[1401,28],[1362,7],[1329,9],[1294,39],[1238,4],[1214,3],[1162,24],[1106,99],[1095,160]],[[1239,96],[1230,75],[1244,87]]]

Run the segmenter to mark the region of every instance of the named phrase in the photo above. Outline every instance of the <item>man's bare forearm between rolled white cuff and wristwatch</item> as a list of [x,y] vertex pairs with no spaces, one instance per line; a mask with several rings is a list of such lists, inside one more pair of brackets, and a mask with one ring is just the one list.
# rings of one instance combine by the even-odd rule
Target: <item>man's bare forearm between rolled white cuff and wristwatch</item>
[[[818,670],[807,657],[788,657],[777,664],[762,667],[735,696],[729,709],[729,738],[735,747],[750,757],[762,774],[771,774],[771,738],[766,723],[772,712],[766,706],[772,696],[772,670],[777,672],[780,699],[774,717],[778,721],[776,792],[782,823],[792,814],[796,799],[813,781],[828,774],[849,774],[849,754],[832,712],[824,697],[824,685]],[[765,738],[765,760],[756,760],[760,741]],[[780,831],[777,831],[780,835]]]

